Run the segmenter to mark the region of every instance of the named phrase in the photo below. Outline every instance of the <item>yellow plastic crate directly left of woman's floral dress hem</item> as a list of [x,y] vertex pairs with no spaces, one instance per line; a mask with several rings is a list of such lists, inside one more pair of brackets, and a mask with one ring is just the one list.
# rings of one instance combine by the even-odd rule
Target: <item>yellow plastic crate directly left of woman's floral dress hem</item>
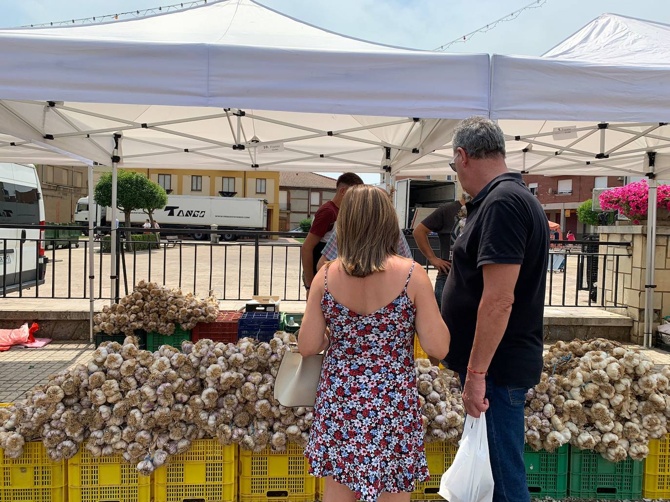
[[283,453],[269,448],[260,453],[240,450],[239,500],[312,502],[316,499],[316,478],[309,469],[304,449],[297,444],[287,444]]

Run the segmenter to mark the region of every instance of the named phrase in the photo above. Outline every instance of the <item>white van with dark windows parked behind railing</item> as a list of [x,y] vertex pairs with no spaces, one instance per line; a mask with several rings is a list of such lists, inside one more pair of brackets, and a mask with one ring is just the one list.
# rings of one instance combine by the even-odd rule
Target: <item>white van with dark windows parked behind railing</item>
[[[0,224],[44,225],[44,201],[34,165],[0,163]],[[0,297],[44,284],[44,230],[0,228]]]

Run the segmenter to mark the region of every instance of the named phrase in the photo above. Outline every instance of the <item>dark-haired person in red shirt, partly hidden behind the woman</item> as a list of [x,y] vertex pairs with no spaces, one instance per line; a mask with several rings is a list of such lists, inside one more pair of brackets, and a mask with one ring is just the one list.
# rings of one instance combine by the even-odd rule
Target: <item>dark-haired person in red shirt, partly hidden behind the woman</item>
[[307,296],[310,295],[310,284],[316,275],[316,265],[321,258],[321,252],[332,234],[337,215],[340,212],[340,203],[344,194],[354,185],[363,185],[363,180],[355,173],[344,173],[337,179],[335,188],[337,190],[332,200],[324,203],[314,214],[312,228],[302,244],[300,256],[302,258],[302,280],[307,290]]

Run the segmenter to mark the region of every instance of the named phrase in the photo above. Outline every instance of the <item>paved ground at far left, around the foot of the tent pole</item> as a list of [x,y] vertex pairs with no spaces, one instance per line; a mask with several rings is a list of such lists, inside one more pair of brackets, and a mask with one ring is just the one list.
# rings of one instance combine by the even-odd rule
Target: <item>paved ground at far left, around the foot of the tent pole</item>
[[49,375],[77,363],[88,363],[91,343],[50,343],[41,349],[9,349],[0,352],[0,402],[20,399],[48,380]]

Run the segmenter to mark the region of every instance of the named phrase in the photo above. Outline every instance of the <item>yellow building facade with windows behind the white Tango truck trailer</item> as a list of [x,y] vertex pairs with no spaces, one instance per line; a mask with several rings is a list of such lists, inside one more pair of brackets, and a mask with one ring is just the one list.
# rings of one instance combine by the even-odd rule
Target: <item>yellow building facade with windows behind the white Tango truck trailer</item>
[[267,225],[279,232],[279,173],[275,171],[224,171],[216,169],[129,169],[143,173],[174,195],[218,197],[236,192],[235,197],[267,201]]

